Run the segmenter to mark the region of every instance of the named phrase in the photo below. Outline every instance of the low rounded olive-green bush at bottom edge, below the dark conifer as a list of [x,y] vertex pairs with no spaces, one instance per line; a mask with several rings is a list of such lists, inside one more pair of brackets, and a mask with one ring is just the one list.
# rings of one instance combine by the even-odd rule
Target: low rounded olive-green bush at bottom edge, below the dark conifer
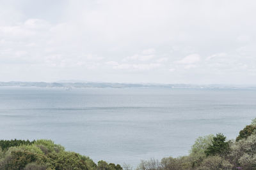
[[204,159],[201,164],[200,167],[198,167],[198,170],[205,170],[205,169],[209,169],[209,170],[217,170],[217,169],[230,169],[232,170],[234,166],[232,166],[232,164],[230,164],[230,162],[228,162],[227,160],[223,159],[220,156],[211,156],[211,157],[207,157],[206,159]]

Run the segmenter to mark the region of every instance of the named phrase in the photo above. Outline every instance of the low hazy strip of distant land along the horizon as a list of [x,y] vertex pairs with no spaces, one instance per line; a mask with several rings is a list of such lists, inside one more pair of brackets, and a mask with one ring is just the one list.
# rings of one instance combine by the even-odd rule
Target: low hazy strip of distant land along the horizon
[[104,83],[89,81],[0,81],[0,87],[59,87],[59,88],[175,88],[175,89],[256,89],[256,85],[191,85],[191,84],[161,84],[161,83]]

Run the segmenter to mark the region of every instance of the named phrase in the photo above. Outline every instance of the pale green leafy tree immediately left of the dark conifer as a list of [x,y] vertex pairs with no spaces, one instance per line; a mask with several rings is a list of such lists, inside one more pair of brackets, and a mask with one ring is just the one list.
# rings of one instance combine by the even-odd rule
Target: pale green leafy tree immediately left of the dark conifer
[[209,134],[207,136],[200,136],[196,139],[190,150],[190,156],[193,158],[194,162],[198,162],[206,157],[205,150],[212,145],[213,137],[213,134]]

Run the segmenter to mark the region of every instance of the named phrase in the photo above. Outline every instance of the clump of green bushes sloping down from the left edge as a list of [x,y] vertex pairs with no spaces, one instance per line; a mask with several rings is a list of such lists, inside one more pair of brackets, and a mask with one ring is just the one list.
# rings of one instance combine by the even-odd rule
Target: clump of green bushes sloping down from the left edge
[[108,164],[75,152],[67,152],[51,140],[1,140],[0,169],[15,170],[122,170],[120,165]]

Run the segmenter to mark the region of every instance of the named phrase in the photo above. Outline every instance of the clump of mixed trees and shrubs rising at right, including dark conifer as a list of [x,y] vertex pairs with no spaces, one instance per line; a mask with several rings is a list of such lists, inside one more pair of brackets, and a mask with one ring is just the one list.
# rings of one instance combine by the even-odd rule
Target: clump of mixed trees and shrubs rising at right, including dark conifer
[[256,118],[239,132],[236,141],[227,141],[223,134],[199,137],[188,156],[143,160],[137,170],[256,169],[255,130]]

